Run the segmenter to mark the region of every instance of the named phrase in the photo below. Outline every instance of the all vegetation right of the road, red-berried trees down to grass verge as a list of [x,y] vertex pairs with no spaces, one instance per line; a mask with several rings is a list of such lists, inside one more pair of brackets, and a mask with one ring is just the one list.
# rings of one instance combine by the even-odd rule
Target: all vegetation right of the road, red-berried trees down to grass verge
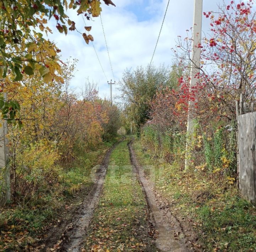
[[[241,93],[245,102],[255,102],[254,3],[231,1],[218,13],[203,15],[210,27],[197,45],[202,53],[196,86],[189,87],[188,30],[186,38],[178,37],[172,68],[159,68],[166,73],[158,72],[165,76],[162,81],[151,83],[149,73],[156,71],[152,66],[124,73],[124,118],[127,125],[136,125],[135,149],[141,165],[146,165],[145,174],[175,215],[189,220],[201,234],[206,251],[255,251],[255,206],[242,199],[237,188],[235,110]],[[189,103],[195,128],[188,136]],[[138,119],[136,111],[145,111],[140,113],[143,118]]]

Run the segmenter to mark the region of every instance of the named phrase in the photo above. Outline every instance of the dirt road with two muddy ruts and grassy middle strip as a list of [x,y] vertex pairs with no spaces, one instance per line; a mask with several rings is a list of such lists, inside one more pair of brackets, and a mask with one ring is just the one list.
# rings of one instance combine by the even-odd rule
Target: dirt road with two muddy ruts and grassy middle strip
[[152,181],[145,177],[132,141],[124,142],[113,155],[117,144],[108,150],[102,165],[92,172],[94,185],[83,203],[48,233],[41,251],[201,251],[190,246],[197,240],[192,228],[175,218],[168,204],[158,197]]

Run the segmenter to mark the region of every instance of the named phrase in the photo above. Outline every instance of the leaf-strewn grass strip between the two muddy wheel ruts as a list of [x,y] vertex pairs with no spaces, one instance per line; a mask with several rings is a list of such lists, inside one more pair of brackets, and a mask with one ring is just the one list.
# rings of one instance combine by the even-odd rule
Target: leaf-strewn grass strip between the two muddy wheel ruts
[[103,193],[85,239],[86,251],[156,251],[148,236],[146,201],[132,171],[128,140],[110,157]]

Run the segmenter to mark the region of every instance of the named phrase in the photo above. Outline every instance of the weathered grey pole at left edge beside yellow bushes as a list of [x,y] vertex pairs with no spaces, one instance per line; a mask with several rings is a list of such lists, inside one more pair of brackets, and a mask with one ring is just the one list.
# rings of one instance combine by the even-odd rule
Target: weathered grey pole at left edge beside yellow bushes
[[[7,93],[4,93],[4,100],[7,100]],[[0,181],[0,205],[11,199],[10,167],[9,167],[9,141],[7,138],[7,120],[0,120],[0,173],[3,181]],[[2,169],[5,169],[2,171]]]

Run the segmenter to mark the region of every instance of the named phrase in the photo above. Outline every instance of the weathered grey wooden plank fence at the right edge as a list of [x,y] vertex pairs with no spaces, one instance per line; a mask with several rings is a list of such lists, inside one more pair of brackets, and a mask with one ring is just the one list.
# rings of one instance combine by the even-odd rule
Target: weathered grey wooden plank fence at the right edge
[[256,203],[256,111],[254,103],[250,110],[240,96],[236,102],[238,123],[238,178],[241,195],[248,201]]

